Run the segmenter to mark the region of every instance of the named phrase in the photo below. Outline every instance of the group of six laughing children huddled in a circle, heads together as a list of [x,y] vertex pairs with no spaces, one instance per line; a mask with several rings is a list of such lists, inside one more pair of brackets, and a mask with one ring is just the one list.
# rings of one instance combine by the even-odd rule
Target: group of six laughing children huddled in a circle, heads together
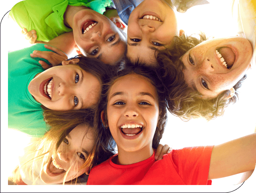
[[[177,30],[172,2],[127,1],[134,7],[123,12],[115,0],[26,0],[12,8],[38,41],[8,53],[8,127],[35,137],[14,170],[17,184],[206,185],[254,169],[255,134],[168,154],[159,144],[167,109],[183,120],[220,116],[256,62],[255,19],[252,39],[198,40]],[[121,21],[102,15],[105,7],[125,24],[129,18],[127,37]],[[73,48],[83,55],[62,61]],[[50,53],[51,68],[41,65]]]

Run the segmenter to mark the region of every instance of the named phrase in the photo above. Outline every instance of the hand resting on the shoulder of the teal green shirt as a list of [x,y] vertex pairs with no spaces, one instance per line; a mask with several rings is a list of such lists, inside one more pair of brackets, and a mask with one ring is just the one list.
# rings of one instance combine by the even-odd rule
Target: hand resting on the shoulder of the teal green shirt
[[63,51],[60,51],[59,49],[52,47],[50,45],[44,45],[45,48],[50,49],[52,51],[38,51],[34,50],[32,54],[30,54],[31,57],[40,57],[48,60],[51,65],[48,65],[46,62],[40,60],[38,61],[40,65],[42,65],[43,69],[48,69],[50,67],[56,66],[59,63],[61,63],[64,60],[67,60],[67,55]]

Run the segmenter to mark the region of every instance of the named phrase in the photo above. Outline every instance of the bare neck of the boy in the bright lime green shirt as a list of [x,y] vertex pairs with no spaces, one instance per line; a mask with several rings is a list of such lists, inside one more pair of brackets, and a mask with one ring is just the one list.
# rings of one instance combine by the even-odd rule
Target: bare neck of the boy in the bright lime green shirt
[[73,26],[73,17],[74,15],[84,9],[90,9],[88,7],[85,6],[67,6],[67,9],[63,15],[64,18],[64,24],[65,26],[67,26],[68,28],[72,28]]

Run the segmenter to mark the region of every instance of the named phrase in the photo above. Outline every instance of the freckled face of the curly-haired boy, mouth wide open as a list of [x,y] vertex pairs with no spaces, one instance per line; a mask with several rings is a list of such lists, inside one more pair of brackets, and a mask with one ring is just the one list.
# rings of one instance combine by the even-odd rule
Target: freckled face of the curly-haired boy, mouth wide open
[[[231,68],[222,65],[222,57]],[[250,42],[242,37],[229,37],[204,41],[187,51],[181,60],[189,87],[198,90],[205,98],[214,98],[222,91],[230,90],[244,76],[251,59]]]

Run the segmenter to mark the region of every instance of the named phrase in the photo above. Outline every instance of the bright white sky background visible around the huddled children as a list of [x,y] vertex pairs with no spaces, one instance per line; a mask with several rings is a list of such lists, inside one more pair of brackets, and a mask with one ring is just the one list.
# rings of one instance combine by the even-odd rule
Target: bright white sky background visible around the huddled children
[[[185,14],[177,13],[179,29],[188,35],[205,32],[208,37],[228,37],[236,35],[234,25],[229,17],[229,0],[209,0],[210,4],[194,6]],[[31,44],[21,34],[20,27],[8,18],[8,51],[29,47]],[[255,72],[254,72],[255,73]],[[224,116],[206,122],[190,120],[183,122],[171,114],[161,144],[168,144],[173,149],[188,146],[217,145],[251,134],[256,127],[256,76],[248,77],[239,89],[239,100],[226,108]],[[16,164],[16,153],[22,148],[26,135],[8,129],[8,166]],[[14,144],[13,142],[16,142]],[[13,149],[14,148],[14,149]],[[15,151],[13,151],[15,150]],[[10,171],[10,168],[8,169]],[[212,184],[235,184],[241,175],[215,179]]]

